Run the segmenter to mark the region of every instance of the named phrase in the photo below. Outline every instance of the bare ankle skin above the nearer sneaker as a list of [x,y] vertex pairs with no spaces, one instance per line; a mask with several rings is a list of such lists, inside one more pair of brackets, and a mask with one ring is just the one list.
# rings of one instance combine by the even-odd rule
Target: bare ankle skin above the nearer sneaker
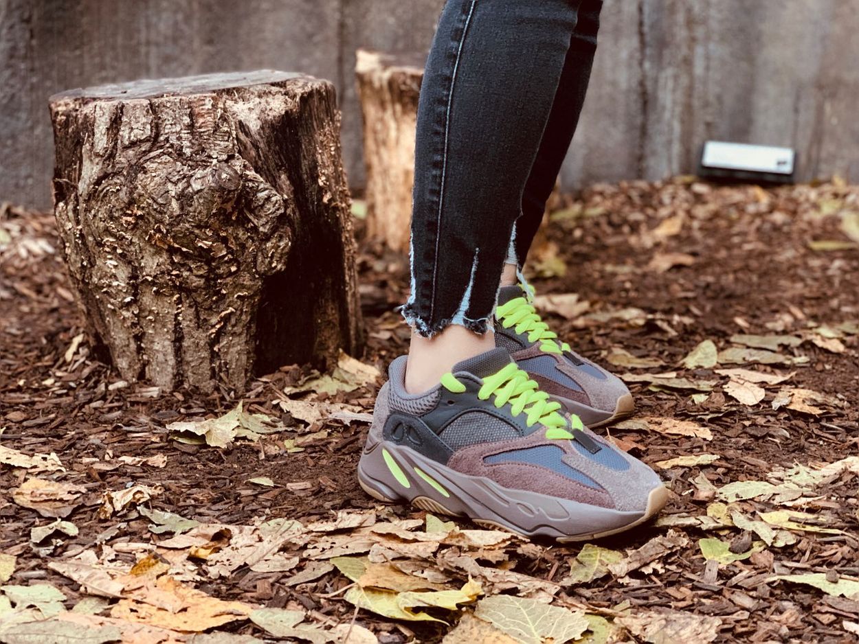
[[495,349],[495,333],[469,331],[464,326],[450,325],[433,337],[411,331],[409,361],[405,367],[405,391],[425,392],[436,386],[459,361]]

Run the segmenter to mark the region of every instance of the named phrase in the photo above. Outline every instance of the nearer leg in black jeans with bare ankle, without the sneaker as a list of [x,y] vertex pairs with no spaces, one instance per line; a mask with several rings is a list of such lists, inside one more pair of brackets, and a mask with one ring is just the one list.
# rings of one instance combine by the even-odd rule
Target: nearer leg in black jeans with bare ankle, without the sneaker
[[494,346],[485,333],[575,25],[569,0],[442,12],[418,106],[409,391]]

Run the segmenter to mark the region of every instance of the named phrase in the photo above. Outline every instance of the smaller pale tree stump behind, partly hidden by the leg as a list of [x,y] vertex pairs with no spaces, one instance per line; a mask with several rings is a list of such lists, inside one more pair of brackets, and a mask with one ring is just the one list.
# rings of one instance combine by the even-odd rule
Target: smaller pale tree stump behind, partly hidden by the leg
[[425,59],[359,49],[355,66],[367,167],[367,232],[401,252],[409,248],[417,96]]

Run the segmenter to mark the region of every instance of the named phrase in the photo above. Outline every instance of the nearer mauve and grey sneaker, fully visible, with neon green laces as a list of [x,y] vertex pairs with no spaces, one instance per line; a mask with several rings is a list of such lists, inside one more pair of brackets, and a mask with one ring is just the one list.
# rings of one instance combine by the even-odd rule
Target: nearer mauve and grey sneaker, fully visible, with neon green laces
[[561,413],[505,349],[417,395],[405,361],[388,369],[358,465],[376,499],[558,541],[622,532],[665,505],[653,470]]

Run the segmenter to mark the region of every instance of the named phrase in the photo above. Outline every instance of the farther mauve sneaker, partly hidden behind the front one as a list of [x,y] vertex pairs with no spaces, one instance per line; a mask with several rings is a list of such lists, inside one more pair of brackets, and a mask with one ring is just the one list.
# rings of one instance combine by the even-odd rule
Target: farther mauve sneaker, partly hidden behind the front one
[[631,416],[635,404],[623,380],[559,342],[520,286],[499,290],[495,315],[496,346],[507,349],[542,391],[589,428]]

